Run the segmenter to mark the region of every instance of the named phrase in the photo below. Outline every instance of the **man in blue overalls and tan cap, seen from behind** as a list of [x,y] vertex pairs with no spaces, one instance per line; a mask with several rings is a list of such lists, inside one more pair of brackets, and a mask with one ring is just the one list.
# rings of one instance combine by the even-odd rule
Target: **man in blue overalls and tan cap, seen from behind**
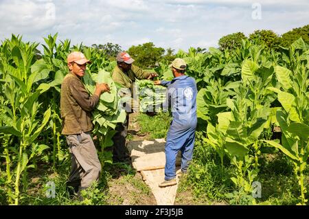
[[155,81],[156,85],[168,87],[163,108],[170,106],[173,116],[165,143],[165,181],[159,183],[160,187],[176,185],[175,163],[179,150],[181,150],[181,172],[187,172],[192,159],[197,124],[196,82],[194,78],[185,76],[187,65],[183,59],[176,58],[171,67],[174,75],[172,81]]

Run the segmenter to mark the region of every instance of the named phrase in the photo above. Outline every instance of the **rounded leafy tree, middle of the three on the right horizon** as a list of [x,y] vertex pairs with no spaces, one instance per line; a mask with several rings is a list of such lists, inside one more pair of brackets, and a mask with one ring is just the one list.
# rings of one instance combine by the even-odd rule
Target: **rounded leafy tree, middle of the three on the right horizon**
[[269,49],[277,48],[280,43],[280,37],[273,30],[255,30],[249,35],[249,40],[258,45],[265,45]]

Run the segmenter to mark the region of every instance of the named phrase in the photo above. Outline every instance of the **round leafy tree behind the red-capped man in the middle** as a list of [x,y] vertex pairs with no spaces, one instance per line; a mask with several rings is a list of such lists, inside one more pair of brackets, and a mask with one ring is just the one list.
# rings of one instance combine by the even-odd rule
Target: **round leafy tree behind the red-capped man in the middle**
[[135,65],[141,68],[155,67],[157,62],[163,58],[165,49],[155,47],[153,43],[144,43],[143,45],[133,45],[128,49],[128,54],[135,59]]

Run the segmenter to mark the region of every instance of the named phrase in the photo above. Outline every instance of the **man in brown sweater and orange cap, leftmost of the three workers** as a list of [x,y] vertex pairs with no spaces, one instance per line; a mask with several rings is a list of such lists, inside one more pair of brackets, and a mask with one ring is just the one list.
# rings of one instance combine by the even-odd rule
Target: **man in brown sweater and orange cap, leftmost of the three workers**
[[79,194],[100,176],[101,164],[90,135],[91,111],[98,104],[101,93],[110,90],[108,84],[97,84],[95,93],[89,95],[81,81],[87,63],[89,60],[81,52],[74,51],[67,56],[69,73],[62,82],[60,95],[62,135],[66,135],[71,154],[67,186]]

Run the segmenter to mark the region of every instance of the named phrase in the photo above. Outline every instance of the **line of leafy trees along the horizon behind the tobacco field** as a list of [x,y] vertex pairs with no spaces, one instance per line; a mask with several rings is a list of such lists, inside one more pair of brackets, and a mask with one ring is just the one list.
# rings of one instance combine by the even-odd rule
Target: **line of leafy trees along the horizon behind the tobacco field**
[[[249,39],[258,45],[264,45],[267,49],[279,49],[279,47],[289,47],[299,37],[303,38],[305,43],[309,43],[309,25],[294,28],[282,35],[276,34],[273,30],[255,30],[249,36],[245,36],[242,32],[236,32],[222,36],[218,41],[218,49],[238,49],[242,44],[242,39]],[[115,60],[117,53],[122,51],[122,47],[118,44],[106,43],[104,45],[93,44],[91,47],[104,51],[110,60]],[[197,53],[205,53],[207,49],[197,47]],[[128,53],[135,59],[135,65],[141,68],[153,68],[159,65],[159,62],[171,62],[176,58],[175,51],[172,48],[163,49],[155,47],[154,43],[144,43],[133,45],[128,49]]]

